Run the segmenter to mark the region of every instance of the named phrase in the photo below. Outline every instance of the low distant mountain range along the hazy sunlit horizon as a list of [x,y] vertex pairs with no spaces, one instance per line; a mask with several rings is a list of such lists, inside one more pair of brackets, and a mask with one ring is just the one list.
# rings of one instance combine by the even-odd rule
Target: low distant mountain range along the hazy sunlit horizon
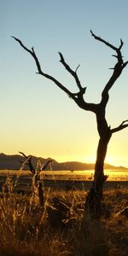
[[[42,157],[32,156],[32,164],[34,167],[37,166],[38,160],[40,160],[41,164],[45,164],[48,160],[52,160],[51,158],[44,159]],[[0,154],[0,170],[19,170],[22,166],[21,162],[24,162],[25,158],[20,154],[14,155],[7,155],[7,154]],[[84,170],[94,170],[95,164],[86,164],[77,161],[70,161],[70,162],[57,162],[53,160],[51,163],[51,169],[53,171],[58,170],[67,170],[67,171],[84,171]],[[28,166],[24,166],[23,170],[28,169]],[[105,169],[113,169],[113,170],[128,170],[124,166],[111,166],[105,164]],[[49,166],[47,167],[49,170]]]

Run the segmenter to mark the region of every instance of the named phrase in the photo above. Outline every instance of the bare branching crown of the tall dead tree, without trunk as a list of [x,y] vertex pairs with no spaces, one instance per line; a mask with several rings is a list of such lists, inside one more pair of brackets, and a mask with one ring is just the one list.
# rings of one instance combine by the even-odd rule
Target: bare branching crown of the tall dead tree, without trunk
[[[97,118],[97,122],[98,122],[98,119],[99,119],[99,116],[100,116],[101,113],[102,113],[103,119],[105,119],[105,108],[107,106],[108,99],[109,99],[108,92],[112,88],[112,86],[115,83],[115,81],[119,78],[120,74],[122,73],[122,70],[128,64],[128,61],[124,62],[123,61],[123,56],[121,54],[121,49],[122,49],[123,44],[124,44],[122,39],[120,39],[120,44],[119,44],[119,47],[117,48],[117,47],[113,46],[113,44],[108,43],[106,40],[104,40],[104,39],[102,39],[100,37],[97,37],[95,35],[95,33],[92,32],[91,30],[90,30],[90,33],[91,33],[93,38],[95,38],[96,40],[98,40],[102,44],[107,45],[109,48],[113,49],[113,51],[115,52],[115,54],[113,56],[117,60],[115,65],[114,65],[114,67],[111,68],[111,69],[113,69],[113,73],[112,73],[110,79],[108,80],[108,83],[105,85],[104,89],[102,90],[102,100],[98,104],[85,102],[84,94],[86,92],[86,87],[83,87],[82,84],[80,83],[79,76],[78,76],[78,73],[77,73],[79,66],[76,68],[75,71],[73,71],[73,69],[71,67],[69,67],[69,65],[65,61],[64,56],[61,54],[61,52],[59,52],[61,64],[67,69],[67,72],[70,73],[73,76],[73,79],[75,80],[75,82],[77,84],[77,87],[79,89],[79,91],[77,93],[73,93],[72,91],[68,90],[66,86],[61,84],[53,76],[51,76],[51,75],[49,75],[47,73],[44,73],[44,71],[42,71],[40,62],[38,61],[38,56],[36,55],[33,47],[32,47],[32,49],[28,49],[20,41],[19,38],[15,38],[15,37],[12,37],[12,38],[15,38],[15,40],[20,44],[20,46],[23,49],[25,49],[30,55],[32,55],[32,58],[34,59],[34,61],[36,63],[36,66],[38,68],[38,74],[44,76],[44,78],[46,78],[46,79],[49,79],[49,80],[53,81],[61,90],[66,92],[67,95],[70,96],[70,98],[72,98],[74,102],[77,103],[79,108],[83,108],[84,110],[96,113],[96,118]],[[128,126],[127,123],[128,123],[128,120],[123,121],[121,123],[121,125],[119,125],[118,127],[112,129],[111,133],[124,129],[125,127]],[[106,121],[106,124],[107,124],[107,121]],[[100,134],[100,130],[99,129],[98,129],[98,131],[99,131],[99,134]]]

